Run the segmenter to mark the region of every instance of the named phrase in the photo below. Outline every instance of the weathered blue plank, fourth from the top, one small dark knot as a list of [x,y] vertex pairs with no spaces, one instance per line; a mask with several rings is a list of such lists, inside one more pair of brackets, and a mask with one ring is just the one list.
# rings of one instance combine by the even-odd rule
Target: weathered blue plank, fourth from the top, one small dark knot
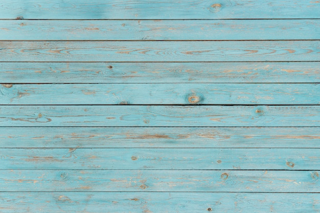
[[0,83],[319,83],[319,62],[3,62]]

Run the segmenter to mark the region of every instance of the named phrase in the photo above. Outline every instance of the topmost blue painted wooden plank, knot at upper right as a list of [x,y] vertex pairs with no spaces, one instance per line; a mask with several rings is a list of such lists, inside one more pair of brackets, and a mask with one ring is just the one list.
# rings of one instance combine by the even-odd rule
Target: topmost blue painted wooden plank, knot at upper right
[[228,19],[319,18],[318,1],[2,0],[0,18],[26,19]]

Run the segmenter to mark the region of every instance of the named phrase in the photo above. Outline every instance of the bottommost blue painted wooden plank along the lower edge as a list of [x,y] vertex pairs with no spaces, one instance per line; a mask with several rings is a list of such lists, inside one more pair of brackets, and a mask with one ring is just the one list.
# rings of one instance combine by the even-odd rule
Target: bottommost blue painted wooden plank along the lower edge
[[[5,213],[318,212],[317,193],[0,193]],[[209,210],[208,210],[209,209]]]

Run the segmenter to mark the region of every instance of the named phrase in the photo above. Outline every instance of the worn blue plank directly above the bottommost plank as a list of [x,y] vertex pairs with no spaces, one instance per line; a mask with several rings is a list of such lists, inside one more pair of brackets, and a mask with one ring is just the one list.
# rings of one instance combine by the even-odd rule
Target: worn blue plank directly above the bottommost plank
[[2,192],[320,192],[318,171],[23,170]]

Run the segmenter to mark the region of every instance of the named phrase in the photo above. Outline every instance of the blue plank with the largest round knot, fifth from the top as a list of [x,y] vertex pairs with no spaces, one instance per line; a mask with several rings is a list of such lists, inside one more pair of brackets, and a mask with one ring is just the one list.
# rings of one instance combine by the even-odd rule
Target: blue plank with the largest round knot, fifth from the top
[[0,105],[317,105],[319,87],[296,83],[2,84]]

